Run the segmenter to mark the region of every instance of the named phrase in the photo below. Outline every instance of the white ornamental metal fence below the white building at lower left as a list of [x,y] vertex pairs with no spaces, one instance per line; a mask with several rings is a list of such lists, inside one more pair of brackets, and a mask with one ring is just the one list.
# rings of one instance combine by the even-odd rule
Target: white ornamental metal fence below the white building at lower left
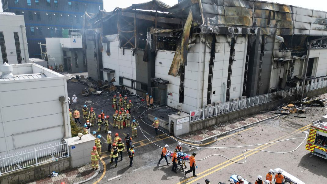
[[0,156],[0,176],[33,165],[69,157],[67,142],[58,142],[13,154]]

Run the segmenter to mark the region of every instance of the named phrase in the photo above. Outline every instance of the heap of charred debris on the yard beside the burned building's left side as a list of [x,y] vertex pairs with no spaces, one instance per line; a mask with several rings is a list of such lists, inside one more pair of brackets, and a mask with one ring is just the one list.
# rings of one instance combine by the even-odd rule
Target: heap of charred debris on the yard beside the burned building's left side
[[106,96],[113,96],[116,94],[131,94],[131,92],[123,86],[115,86],[112,82],[104,82],[103,80],[93,80],[91,77],[85,78],[83,75],[76,75],[76,77],[72,77],[67,81],[80,82],[87,86],[86,88],[82,89],[81,94],[83,96],[88,96],[90,94]]

